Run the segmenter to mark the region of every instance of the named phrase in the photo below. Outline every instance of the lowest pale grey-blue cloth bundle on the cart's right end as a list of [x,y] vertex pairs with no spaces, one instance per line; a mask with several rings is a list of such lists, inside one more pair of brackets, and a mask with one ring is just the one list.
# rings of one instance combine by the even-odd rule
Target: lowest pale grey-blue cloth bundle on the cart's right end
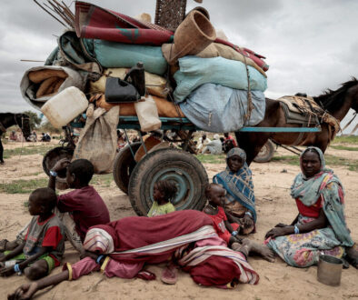
[[184,115],[204,131],[224,133],[237,131],[244,125],[257,125],[264,119],[264,93],[252,91],[254,109],[244,124],[247,92],[223,85],[199,86],[180,104]]

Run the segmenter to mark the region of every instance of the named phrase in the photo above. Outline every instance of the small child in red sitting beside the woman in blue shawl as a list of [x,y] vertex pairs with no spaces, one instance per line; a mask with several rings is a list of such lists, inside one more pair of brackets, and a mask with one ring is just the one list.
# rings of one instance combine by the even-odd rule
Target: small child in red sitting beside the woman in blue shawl
[[210,184],[205,188],[205,196],[208,200],[208,204],[204,207],[204,213],[209,215],[213,219],[214,229],[227,245],[233,243],[240,243],[238,238],[238,232],[236,229],[238,224],[230,224],[228,220],[234,222],[231,215],[227,215],[222,207],[225,201],[225,190],[221,185]]

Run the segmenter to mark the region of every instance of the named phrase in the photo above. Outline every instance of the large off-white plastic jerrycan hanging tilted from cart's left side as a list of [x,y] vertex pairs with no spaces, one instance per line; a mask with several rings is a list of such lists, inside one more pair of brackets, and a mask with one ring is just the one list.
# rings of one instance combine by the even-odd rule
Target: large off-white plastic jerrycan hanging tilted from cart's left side
[[87,107],[85,94],[77,87],[70,86],[48,100],[41,107],[41,111],[55,128],[61,128],[84,112]]

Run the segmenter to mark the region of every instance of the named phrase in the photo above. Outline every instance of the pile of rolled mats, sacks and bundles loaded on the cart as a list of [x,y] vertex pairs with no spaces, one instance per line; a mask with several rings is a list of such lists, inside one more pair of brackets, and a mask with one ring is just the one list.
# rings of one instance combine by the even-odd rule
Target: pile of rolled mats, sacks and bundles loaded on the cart
[[[29,79],[33,70],[28,70],[21,85],[23,96],[41,108],[73,85],[89,99],[105,94],[108,77],[123,80],[128,70],[141,62],[146,94],[154,95],[158,115],[182,117],[184,113],[194,125],[214,132],[255,125],[264,117],[268,65],[264,56],[217,38],[209,18],[199,7],[173,32],[147,19],[76,1],[72,30],[58,38],[58,46],[45,62],[48,68],[63,70],[66,77],[50,76],[39,85]],[[97,106],[113,107],[104,97],[99,98]],[[120,106],[124,108],[121,112],[133,112],[135,107]],[[208,121],[209,112],[212,121]]]

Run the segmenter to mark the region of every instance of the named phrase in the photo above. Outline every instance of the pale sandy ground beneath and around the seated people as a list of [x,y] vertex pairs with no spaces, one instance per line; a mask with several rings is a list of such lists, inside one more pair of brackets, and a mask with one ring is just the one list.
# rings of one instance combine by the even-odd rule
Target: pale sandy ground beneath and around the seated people
[[[5,148],[12,145],[5,145]],[[288,155],[285,150],[280,154]],[[331,155],[341,155],[346,158],[357,159],[357,152],[343,150],[328,151]],[[43,177],[41,155],[12,157],[0,165],[0,182],[7,183],[15,179],[30,179]],[[209,178],[224,169],[222,165],[205,165]],[[257,201],[258,223],[257,233],[251,235],[256,241],[263,241],[264,234],[278,222],[290,223],[297,210],[293,199],[289,196],[289,187],[294,176],[299,172],[295,165],[281,163],[253,164],[254,185]],[[341,178],[346,192],[346,217],[352,229],[353,239],[358,241],[358,202],[356,188],[358,174],[348,171],[346,167],[334,167],[334,171]],[[38,174],[38,175],[34,175]],[[124,195],[114,182],[110,187],[96,186],[108,205],[111,219],[115,220],[127,215],[134,215],[127,195]],[[0,238],[12,239],[16,232],[31,218],[24,206],[28,195],[0,194]],[[70,245],[64,261],[75,262],[78,256]],[[64,282],[45,293],[39,293],[36,299],[228,299],[243,297],[247,299],[358,299],[358,271],[351,266],[343,270],[342,283],[339,287],[323,285],[316,280],[317,268],[298,269],[287,266],[279,258],[270,264],[258,257],[250,257],[249,262],[260,275],[258,285],[238,285],[234,290],[220,290],[195,285],[189,275],[180,272],[176,285],[164,285],[159,280],[161,266],[148,266],[157,275],[152,282],[141,279],[124,280],[120,278],[108,279],[99,273],[84,276],[75,282]],[[60,271],[57,268],[53,273]],[[0,278],[2,298],[14,291],[15,287],[26,281],[24,276],[14,275]]]

